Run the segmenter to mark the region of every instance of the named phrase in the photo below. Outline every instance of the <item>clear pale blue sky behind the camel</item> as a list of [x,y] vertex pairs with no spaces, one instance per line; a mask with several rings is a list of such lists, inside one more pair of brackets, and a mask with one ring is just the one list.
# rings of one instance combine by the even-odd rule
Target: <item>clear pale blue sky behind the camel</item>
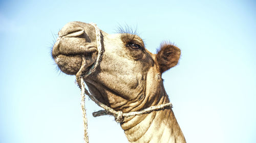
[[[70,21],[114,34],[138,28],[146,48],[182,51],[164,85],[187,142],[256,142],[255,1],[1,1],[0,142],[83,142],[80,90],[50,52]],[[127,142],[86,101],[90,142]]]

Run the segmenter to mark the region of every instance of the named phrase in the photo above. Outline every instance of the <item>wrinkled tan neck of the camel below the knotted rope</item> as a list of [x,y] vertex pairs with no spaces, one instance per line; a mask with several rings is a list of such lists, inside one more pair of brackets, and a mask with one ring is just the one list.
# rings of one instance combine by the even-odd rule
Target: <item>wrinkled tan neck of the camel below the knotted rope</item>
[[[166,94],[161,98],[159,101],[168,101]],[[121,127],[129,142],[186,142],[170,107],[131,117]]]

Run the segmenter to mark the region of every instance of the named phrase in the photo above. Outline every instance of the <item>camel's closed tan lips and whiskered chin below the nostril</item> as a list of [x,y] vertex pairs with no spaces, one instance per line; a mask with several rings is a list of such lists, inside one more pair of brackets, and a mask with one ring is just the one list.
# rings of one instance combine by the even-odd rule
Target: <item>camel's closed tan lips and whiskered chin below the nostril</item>
[[[72,36],[80,36],[71,33]],[[70,42],[73,42],[70,44]],[[75,75],[82,64],[82,55],[86,57],[86,67],[90,67],[97,59],[98,50],[94,43],[86,43],[80,37],[59,37],[52,49],[52,58],[58,68],[66,74]]]

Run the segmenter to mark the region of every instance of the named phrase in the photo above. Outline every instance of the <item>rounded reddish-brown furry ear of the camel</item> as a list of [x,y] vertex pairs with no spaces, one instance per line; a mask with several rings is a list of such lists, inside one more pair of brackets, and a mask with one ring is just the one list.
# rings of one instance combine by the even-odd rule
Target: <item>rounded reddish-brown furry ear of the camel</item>
[[160,72],[176,66],[180,59],[180,49],[172,44],[163,43],[157,50],[156,60],[160,67]]

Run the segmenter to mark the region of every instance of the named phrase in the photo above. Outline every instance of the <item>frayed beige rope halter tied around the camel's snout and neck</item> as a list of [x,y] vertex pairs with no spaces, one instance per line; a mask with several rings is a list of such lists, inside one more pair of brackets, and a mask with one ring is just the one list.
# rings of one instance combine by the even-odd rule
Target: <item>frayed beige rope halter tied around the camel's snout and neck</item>
[[85,94],[88,95],[90,97],[90,99],[93,100],[98,106],[100,106],[104,109],[104,110],[99,110],[99,111],[93,112],[93,117],[98,117],[98,116],[103,116],[103,115],[112,115],[112,116],[115,117],[115,120],[118,123],[122,123],[125,117],[141,115],[141,114],[144,114],[144,113],[150,113],[154,110],[163,109],[164,107],[167,107],[167,106],[173,107],[172,103],[169,102],[169,103],[166,103],[166,104],[151,106],[151,107],[148,107],[148,108],[146,108],[144,110],[141,110],[141,111],[133,111],[133,112],[123,113],[120,110],[116,111],[113,108],[110,108],[109,106],[99,102],[93,95],[90,94],[88,92],[88,90],[85,88],[83,78],[86,78],[88,75],[90,75],[91,73],[93,73],[95,71],[96,67],[99,64],[101,56],[102,56],[100,30],[99,30],[99,28],[97,27],[96,24],[91,23],[91,25],[94,26],[95,32],[96,32],[96,41],[97,41],[97,49],[98,49],[97,60],[91,66],[89,71],[87,71],[86,73],[83,73],[83,69],[84,69],[84,67],[86,67],[86,58],[84,57],[84,55],[82,55],[82,64],[81,64],[81,67],[80,67],[79,71],[76,74],[76,81],[77,81],[77,84],[78,84],[79,88],[81,89],[81,98],[82,98],[81,108],[82,108],[82,113],[83,113],[84,141],[86,141],[86,143],[89,142],[89,137],[88,137],[87,115],[86,115],[86,108],[85,108]]

